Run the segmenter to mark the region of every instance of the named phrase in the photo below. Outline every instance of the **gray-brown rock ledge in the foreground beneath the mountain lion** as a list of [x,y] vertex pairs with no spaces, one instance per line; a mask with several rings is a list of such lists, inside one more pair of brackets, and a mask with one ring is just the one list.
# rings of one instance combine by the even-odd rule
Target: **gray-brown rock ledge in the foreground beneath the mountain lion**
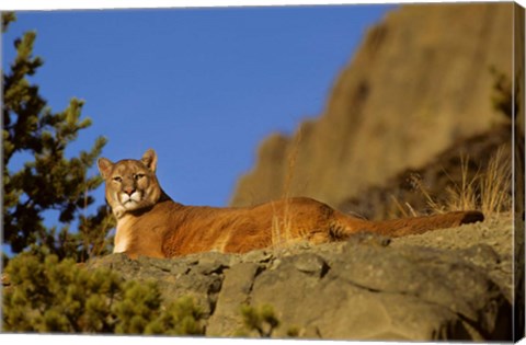
[[[450,230],[477,234],[484,228]],[[421,243],[418,237],[404,243],[358,234],[347,242],[299,243],[244,255],[132,261],[113,254],[89,266],[111,266],[125,279],[156,279],[167,300],[194,297],[205,311],[209,336],[236,335],[243,325],[241,304],[270,304],[281,321],[273,337],[295,329],[305,338],[504,341],[511,338],[513,319],[506,291],[511,261],[502,260],[507,241],[502,233],[511,227],[499,222],[492,231],[487,242],[499,242],[500,250],[469,239],[441,248],[426,242],[425,237],[441,235],[434,231]],[[510,277],[502,277],[501,262]]]

